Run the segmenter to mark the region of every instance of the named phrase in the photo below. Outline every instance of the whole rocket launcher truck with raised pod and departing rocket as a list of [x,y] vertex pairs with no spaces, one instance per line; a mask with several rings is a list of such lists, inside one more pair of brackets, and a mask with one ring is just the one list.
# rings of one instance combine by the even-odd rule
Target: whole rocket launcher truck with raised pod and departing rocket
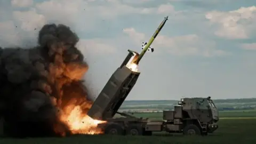
[[[99,124],[106,134],[151,135],[152,132],[166,131],[170,133],[207,135],[217,130],[219,113],[210,97],[184,98],[174,106],[174,110],[163,111],[163,120],[152,121],[148,118],[138,118],[119,113],[125,98],[137,82],[140,72],[138,63],[150,47],[168,17],[159,25],[148,43],[142,45],[142,52],[129,51],[122,65],[117,68],[109,81],[103,87],[87,115],[93,119],[107,121]],[[114,118],[115,114],[124,117]]]

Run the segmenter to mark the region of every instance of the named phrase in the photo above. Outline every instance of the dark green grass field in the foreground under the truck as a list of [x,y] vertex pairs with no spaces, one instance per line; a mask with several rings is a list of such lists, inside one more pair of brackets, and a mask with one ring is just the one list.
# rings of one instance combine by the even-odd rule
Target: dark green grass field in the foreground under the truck
[[[150,118],[161,118],[161,114],[135,114]],[[69,138],[36,138],[36,139],[2,139],[0,144],[76,144],[76,143],[256,143],[256,113],[252,111],[220,112],[219,129],[207,137],[185,137],[183,135],[161,134],[151,137],[110,136],[110,135],[77,135]],[[226,116],[226,117],[225,117]]]

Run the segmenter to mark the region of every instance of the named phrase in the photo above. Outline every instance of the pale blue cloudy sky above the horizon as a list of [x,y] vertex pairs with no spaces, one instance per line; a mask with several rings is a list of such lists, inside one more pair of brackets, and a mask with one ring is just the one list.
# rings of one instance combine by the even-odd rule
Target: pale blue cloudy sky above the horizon
[[97,97],[167,15],[126,100],[256,98],[255,0],[0,0],[0,46],[35,46],[46,23],[69,26]]

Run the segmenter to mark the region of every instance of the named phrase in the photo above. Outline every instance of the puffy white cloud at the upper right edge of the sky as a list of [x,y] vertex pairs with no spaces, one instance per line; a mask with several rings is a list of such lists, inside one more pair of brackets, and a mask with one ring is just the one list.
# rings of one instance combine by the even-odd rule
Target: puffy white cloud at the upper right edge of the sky
[[215,35],[229,39],[249,38],[256,30],[256,7],[241,7],[229,12],[211,11],[205,18],[219,28]]

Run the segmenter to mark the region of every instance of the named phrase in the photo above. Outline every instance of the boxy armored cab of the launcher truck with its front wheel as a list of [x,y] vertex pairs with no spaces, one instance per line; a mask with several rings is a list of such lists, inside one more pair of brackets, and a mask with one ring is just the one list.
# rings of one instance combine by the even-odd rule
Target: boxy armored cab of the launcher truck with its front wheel
[[178,105],[173,111],[163,111],[165,131],[206,135],[218,129],[219,112],[210,97],[185,98]]

